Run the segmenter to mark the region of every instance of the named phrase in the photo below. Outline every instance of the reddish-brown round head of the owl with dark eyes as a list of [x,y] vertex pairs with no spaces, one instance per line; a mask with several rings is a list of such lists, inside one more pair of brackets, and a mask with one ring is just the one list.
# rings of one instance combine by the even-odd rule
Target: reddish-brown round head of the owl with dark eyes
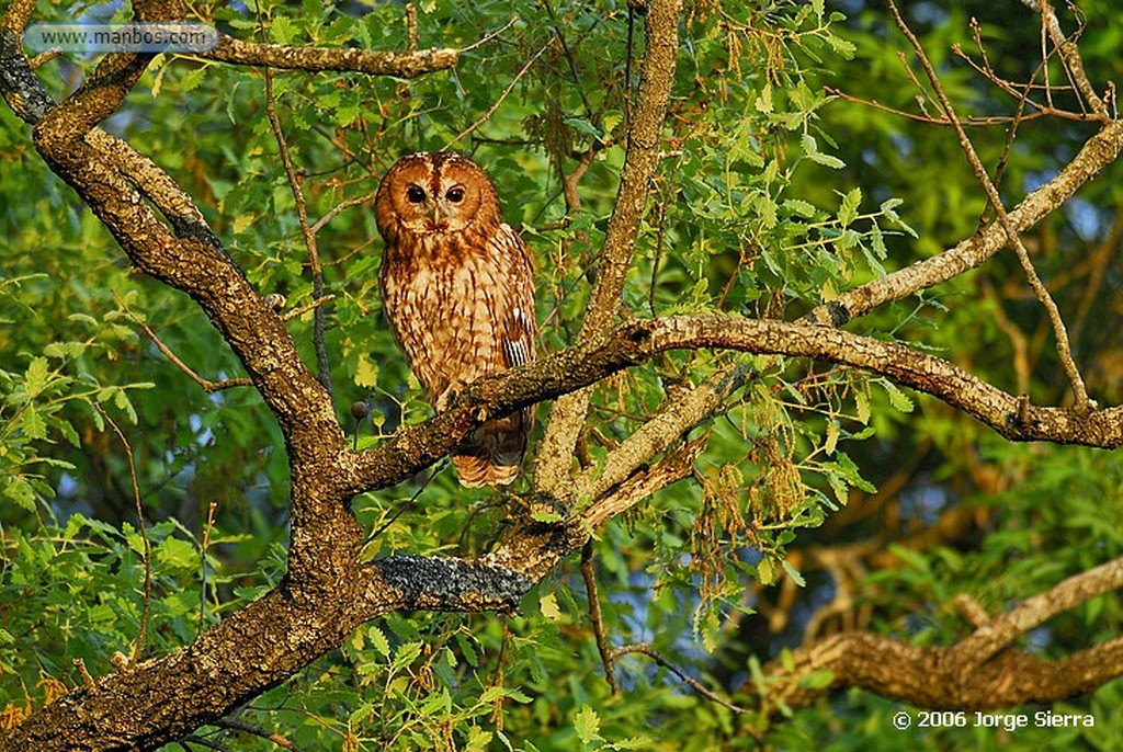
[[421,152],[386,172],[375,198],[378,231],[454,233],[497,226],[499,196],[481,167],[450,152]]

